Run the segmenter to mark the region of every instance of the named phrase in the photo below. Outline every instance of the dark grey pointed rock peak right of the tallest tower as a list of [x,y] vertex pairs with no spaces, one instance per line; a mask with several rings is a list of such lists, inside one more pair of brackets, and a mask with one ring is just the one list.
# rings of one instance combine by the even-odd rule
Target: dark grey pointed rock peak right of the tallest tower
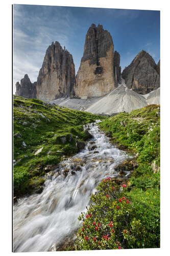
[[122,72],[128,89],[140,94],[147,94],[160,87],[160,75],[151,55],[139,52],[131,64]]

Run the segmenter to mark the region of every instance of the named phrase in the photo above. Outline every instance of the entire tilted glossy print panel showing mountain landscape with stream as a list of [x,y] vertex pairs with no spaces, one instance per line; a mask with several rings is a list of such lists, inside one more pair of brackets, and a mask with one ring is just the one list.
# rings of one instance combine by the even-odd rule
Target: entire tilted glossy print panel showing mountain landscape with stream
[[13,251],[160,247],[160,12],[13,5]]

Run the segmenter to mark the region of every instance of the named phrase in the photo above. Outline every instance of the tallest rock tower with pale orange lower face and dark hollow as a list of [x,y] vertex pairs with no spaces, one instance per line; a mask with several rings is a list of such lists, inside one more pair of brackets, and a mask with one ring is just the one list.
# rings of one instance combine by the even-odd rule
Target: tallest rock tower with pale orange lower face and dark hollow
[[84,54],[76,77],[75,95],[100,97],[115,89],[113,41],[102,25],[88,29]]

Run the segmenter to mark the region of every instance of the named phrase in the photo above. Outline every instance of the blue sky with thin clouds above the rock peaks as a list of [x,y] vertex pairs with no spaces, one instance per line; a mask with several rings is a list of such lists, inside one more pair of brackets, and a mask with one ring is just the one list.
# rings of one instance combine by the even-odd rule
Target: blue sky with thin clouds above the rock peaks
[[14,5],[13,84],[28,74],[37,80],[45,51],[59,41],[72,54],[76,73],[83,56],[85,36],[94,23],[103,25],[120,54],[122,70],[142,49],[160,59],[160,12],[127,9]]

